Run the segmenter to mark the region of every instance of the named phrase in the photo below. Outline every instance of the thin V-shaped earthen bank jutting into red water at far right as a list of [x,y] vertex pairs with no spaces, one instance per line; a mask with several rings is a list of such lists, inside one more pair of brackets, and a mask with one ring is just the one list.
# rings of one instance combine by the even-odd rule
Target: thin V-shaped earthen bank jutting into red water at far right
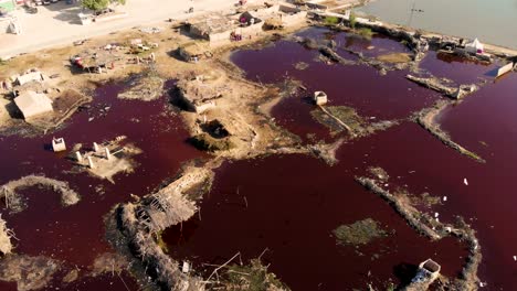
[[443,142],[443,144],[452,148],[453,150],[464,154],[479,163],[485,163],[486,161],[477,155],[476,153],[463,148],[462,146],[454,142],[451,137],[440,128],[440,125],[436,122],[436,117],[449,106],[451,105],[446,100],[439,100],[434,107],[425,108],[416,114],[416,122],[423,127],[425,130],[431,132],[435,138]]

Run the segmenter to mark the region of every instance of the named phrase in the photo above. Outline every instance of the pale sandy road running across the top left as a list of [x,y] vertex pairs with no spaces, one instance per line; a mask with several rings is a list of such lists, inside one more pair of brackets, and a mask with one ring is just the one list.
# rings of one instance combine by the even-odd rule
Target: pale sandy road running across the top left
[[55,45],[70,44],[73,41],[108,34],[109,32],[139,25],[163,23],[165,20],[184,19],[189,7],[194,7],[194,14],[228,9],[238,0],[127,0],[127,4],[117,8],[128,15],[124,19],[104,23],[81,25],[77,13],[81,7],[67,6],[64,1],[48,7],[39,7],[39,13],[19,12],[22,24],[21,35],[0,34],[0,57],[34,52]]

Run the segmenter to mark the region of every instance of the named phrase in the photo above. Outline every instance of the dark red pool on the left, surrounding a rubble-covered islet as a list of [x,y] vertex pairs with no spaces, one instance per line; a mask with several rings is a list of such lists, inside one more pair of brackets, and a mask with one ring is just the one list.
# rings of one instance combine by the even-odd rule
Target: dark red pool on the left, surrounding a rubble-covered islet
[[[172,83],[167,86],[171,87]],[[55,133],[39,138],[0,138],[0,151],[3,153],[1,184],[28,174],[43,173],[68,182],[81,194],[78,204],[62,207],[56,193],[28,188],[22,193],[28,197],[29,207],[19,214],[9,214],[2,203],[2,217],[20,239],[15,252],[63,260],[65,270],[72,266],[87,269],[96,257],[113,251],[104,238],[103,219],[115,204],[130,201],[130,194],[149,193],[166,177],[175,175],[182,162],[203,157],[186,143],[188,132],[182,128],[181,119],[168,109],[167,94],[150,103],[119,100],[116,96],[123,87],[122,84],[99,87],[95,91],[93,109],[77,112],[67,127]],[[98,109],[105,107],[109,107],[108,114],[99,117]],[[92,116],[95,118],[88,122]],[[53,136],[63,137],[71,149],[75,143],[91,147],[93,141],[123,134],[144,152],[134,158],[138,163],[135,172],[116,175],[115,184],[86,173],[68,173],[72,163],[63,154],[45,149]],[[103,187],[104,194],[96,192],[98,186]],[[76,289],[92,290],[95,285],[105,284],[106,289],[98,290],[126,290],[124,285],[120,288],[118,277],[113,279],[113,285],[109,284],[110,278],[103,278],[81,280]],[[0,283],[0,289],[14,290],[12,285]]]

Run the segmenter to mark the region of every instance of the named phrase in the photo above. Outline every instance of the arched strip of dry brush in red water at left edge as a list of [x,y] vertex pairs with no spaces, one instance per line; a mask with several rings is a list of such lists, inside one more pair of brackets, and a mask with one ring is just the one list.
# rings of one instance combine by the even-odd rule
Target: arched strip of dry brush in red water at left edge
[[70,206],[76,204],[81,196],[72,190],[67,182],[57,181],[42,175],[28,175],[19,180],[10,181],[0,187],[0,197],[6,200],[6,207],[18,213],[25,209],[27,205],[23,198],[17,193],[17,190],[41,185],[50,187],[61,194],[61,204]]

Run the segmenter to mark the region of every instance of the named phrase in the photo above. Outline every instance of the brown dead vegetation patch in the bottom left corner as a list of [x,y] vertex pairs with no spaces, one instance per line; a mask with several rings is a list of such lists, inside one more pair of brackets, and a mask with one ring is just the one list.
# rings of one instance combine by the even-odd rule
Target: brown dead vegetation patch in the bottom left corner
[[17,282],[19,291],[44,288],[60,269],[59,262],[46,257],[7,256],[0,260],[0,279]]

